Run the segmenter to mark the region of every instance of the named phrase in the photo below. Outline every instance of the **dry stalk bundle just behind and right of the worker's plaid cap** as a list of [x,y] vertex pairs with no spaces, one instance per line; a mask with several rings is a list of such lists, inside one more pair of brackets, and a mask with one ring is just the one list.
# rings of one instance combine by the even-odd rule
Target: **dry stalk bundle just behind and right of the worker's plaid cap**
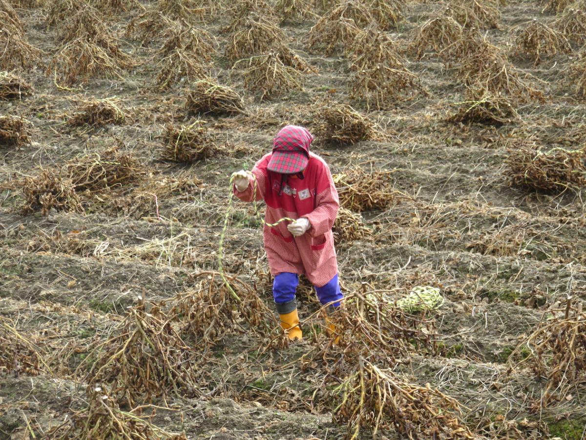
[[316,135],[330,144],[353,145],[383,138],[372,121],[346,104],[322,107],[316,111],[314,119],[319,121]]

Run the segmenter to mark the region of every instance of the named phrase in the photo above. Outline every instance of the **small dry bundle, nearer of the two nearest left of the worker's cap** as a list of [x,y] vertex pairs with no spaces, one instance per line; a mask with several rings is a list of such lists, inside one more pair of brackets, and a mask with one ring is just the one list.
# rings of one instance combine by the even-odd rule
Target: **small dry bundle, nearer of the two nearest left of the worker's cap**
[[189,126],[168,125],[163,134],[165,150],[162,158],[173,162],[193,163],[220,152],[205,121],[197,120]]

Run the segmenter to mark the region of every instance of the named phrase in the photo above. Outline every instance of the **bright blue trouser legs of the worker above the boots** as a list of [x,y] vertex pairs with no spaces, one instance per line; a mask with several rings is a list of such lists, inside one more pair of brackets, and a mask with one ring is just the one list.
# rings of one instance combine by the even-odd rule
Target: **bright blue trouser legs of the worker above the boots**
[[[275,276],[275,280],[272,283],[272,297],[275,300],[275,304],[277,304],[278,313],[291,313],[297,309],[295,292],[297,291],[298,285],[299,275],[297,273],[282,272]],[[334,307],[340,306],[342,292],[340,292],[340,283],[337,274],[325,286],[314,287],[320,303],[333,303],[332,305]]]

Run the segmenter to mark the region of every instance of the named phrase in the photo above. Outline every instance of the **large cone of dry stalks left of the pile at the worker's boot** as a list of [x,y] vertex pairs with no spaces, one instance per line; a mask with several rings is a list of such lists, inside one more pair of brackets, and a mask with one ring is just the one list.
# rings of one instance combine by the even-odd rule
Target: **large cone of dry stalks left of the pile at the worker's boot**
[[196,365],[201,360],[195,348],[183,341],[180,329],[156,304],[139,297],[128,309],[114,335],[91,348],[78,371],[87,370],[90,385],[109,384],[113,396],[132,407],[138,400],[151,400],[182,391],[200,391]]

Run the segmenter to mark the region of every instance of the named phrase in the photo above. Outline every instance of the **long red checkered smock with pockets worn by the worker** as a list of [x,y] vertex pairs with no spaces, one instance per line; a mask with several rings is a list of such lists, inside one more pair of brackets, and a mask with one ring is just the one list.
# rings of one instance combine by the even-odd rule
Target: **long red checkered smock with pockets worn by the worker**
[[304,178],[282,180],[284,175],[267,170],[271,154],[254,165],[254,178],[250,178],[248,188],[240,192],[234,187],[234,195],[251,202],[256,184],[257,201],[264,200],[267,204],[267,223],[274,224],[283,217],[309,220],[311,228],[299,237],[291,235],[287,222],[274,228],[265,225],[264,248],[273,276],[281,272],[305,273],[313,285],[322,287],[338,273],[332,225],[338,215],[339,201],[332,174],[321,157],[309,153]]

